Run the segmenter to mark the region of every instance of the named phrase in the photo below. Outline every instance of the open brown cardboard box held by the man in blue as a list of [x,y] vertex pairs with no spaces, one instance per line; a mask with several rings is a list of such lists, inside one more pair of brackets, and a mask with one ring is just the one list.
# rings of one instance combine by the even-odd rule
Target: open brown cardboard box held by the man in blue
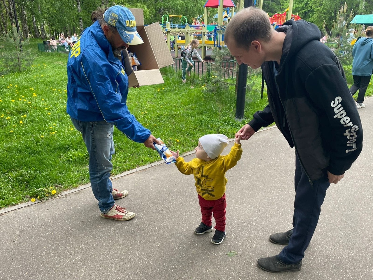
[[[123,52],[125,71],[128,76],[129,87],[137,85],[163,84],[160,68],[173,64],[172,56],[167,48],[167,42],[159,22],[144,26],[144,13],[142,9],[130,8],[136,19],[137,32],[144,44],[129,46]],[[141,65],[137,71],[132,70],[128,52],[135,53]]]

